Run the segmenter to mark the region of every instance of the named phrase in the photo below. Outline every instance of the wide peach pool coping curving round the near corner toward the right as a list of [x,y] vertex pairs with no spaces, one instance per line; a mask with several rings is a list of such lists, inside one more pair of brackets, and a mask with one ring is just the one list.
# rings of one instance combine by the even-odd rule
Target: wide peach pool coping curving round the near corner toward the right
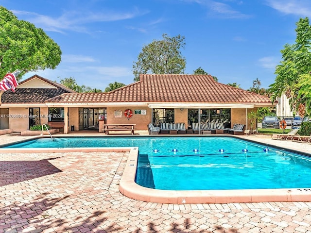
[[311,188],[235,190],[158,190],[135,183],[138,148],[130,150],[120,181],[120,192],[131,199],[167,204],[311,201]]

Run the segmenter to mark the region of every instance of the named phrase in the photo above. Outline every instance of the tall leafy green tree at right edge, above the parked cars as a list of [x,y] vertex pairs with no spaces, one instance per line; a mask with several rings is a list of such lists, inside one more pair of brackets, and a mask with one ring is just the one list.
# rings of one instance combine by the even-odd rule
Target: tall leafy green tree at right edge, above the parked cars
[[271,84],[272,100],[276,100],[283,93],[290,100],[292,109],[304,116],[311,112],[311,26],[309,18],[300,18],[297,28],[295,44],[286,44],[281,50],[282,61],[276,66],[275,83]]

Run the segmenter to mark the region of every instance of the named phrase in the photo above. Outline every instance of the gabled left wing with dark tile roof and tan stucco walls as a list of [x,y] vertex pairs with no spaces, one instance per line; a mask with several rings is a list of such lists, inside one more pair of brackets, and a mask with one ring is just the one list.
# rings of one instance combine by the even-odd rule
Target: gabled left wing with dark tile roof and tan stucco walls
[[49,121],[64,125],[64,111],[49,108],[45,103],[45,100],[64,93],[76,92],[38,75],[20,82],[15,92],[8,90],[0,97],[0,129],[21,132]]

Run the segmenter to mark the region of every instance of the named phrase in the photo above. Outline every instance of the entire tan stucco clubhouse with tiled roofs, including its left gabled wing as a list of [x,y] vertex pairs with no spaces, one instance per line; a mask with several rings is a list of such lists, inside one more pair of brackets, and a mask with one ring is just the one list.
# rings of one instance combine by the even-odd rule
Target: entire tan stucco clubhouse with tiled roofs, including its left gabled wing
[[218,83],[210,75],[193,74],[141,74],[140,81],[108,93],[76,93],[35,75],[19,83],[15,93],[3,93],[1,101],[0,115],[12,117],[1,117],[0,128],[29,129],[30,116],[39,111],[35,124],[62,121],[64,133],[101,132],[103,123],[136,124],[137,130],[161,122],[183,122],[186,128],[207,121],[223,122],[229,128],[235,123],[248,126],[249,111],[274,106],[266,96]]

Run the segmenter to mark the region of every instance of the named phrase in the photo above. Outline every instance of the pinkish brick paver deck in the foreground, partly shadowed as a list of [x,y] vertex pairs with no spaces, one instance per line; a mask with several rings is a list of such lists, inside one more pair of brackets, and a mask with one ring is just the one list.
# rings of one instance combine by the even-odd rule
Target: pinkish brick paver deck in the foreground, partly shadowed
[[127,153],[0,154],[0,232],[311,233],[311,202],[161,204],[119,192]]

